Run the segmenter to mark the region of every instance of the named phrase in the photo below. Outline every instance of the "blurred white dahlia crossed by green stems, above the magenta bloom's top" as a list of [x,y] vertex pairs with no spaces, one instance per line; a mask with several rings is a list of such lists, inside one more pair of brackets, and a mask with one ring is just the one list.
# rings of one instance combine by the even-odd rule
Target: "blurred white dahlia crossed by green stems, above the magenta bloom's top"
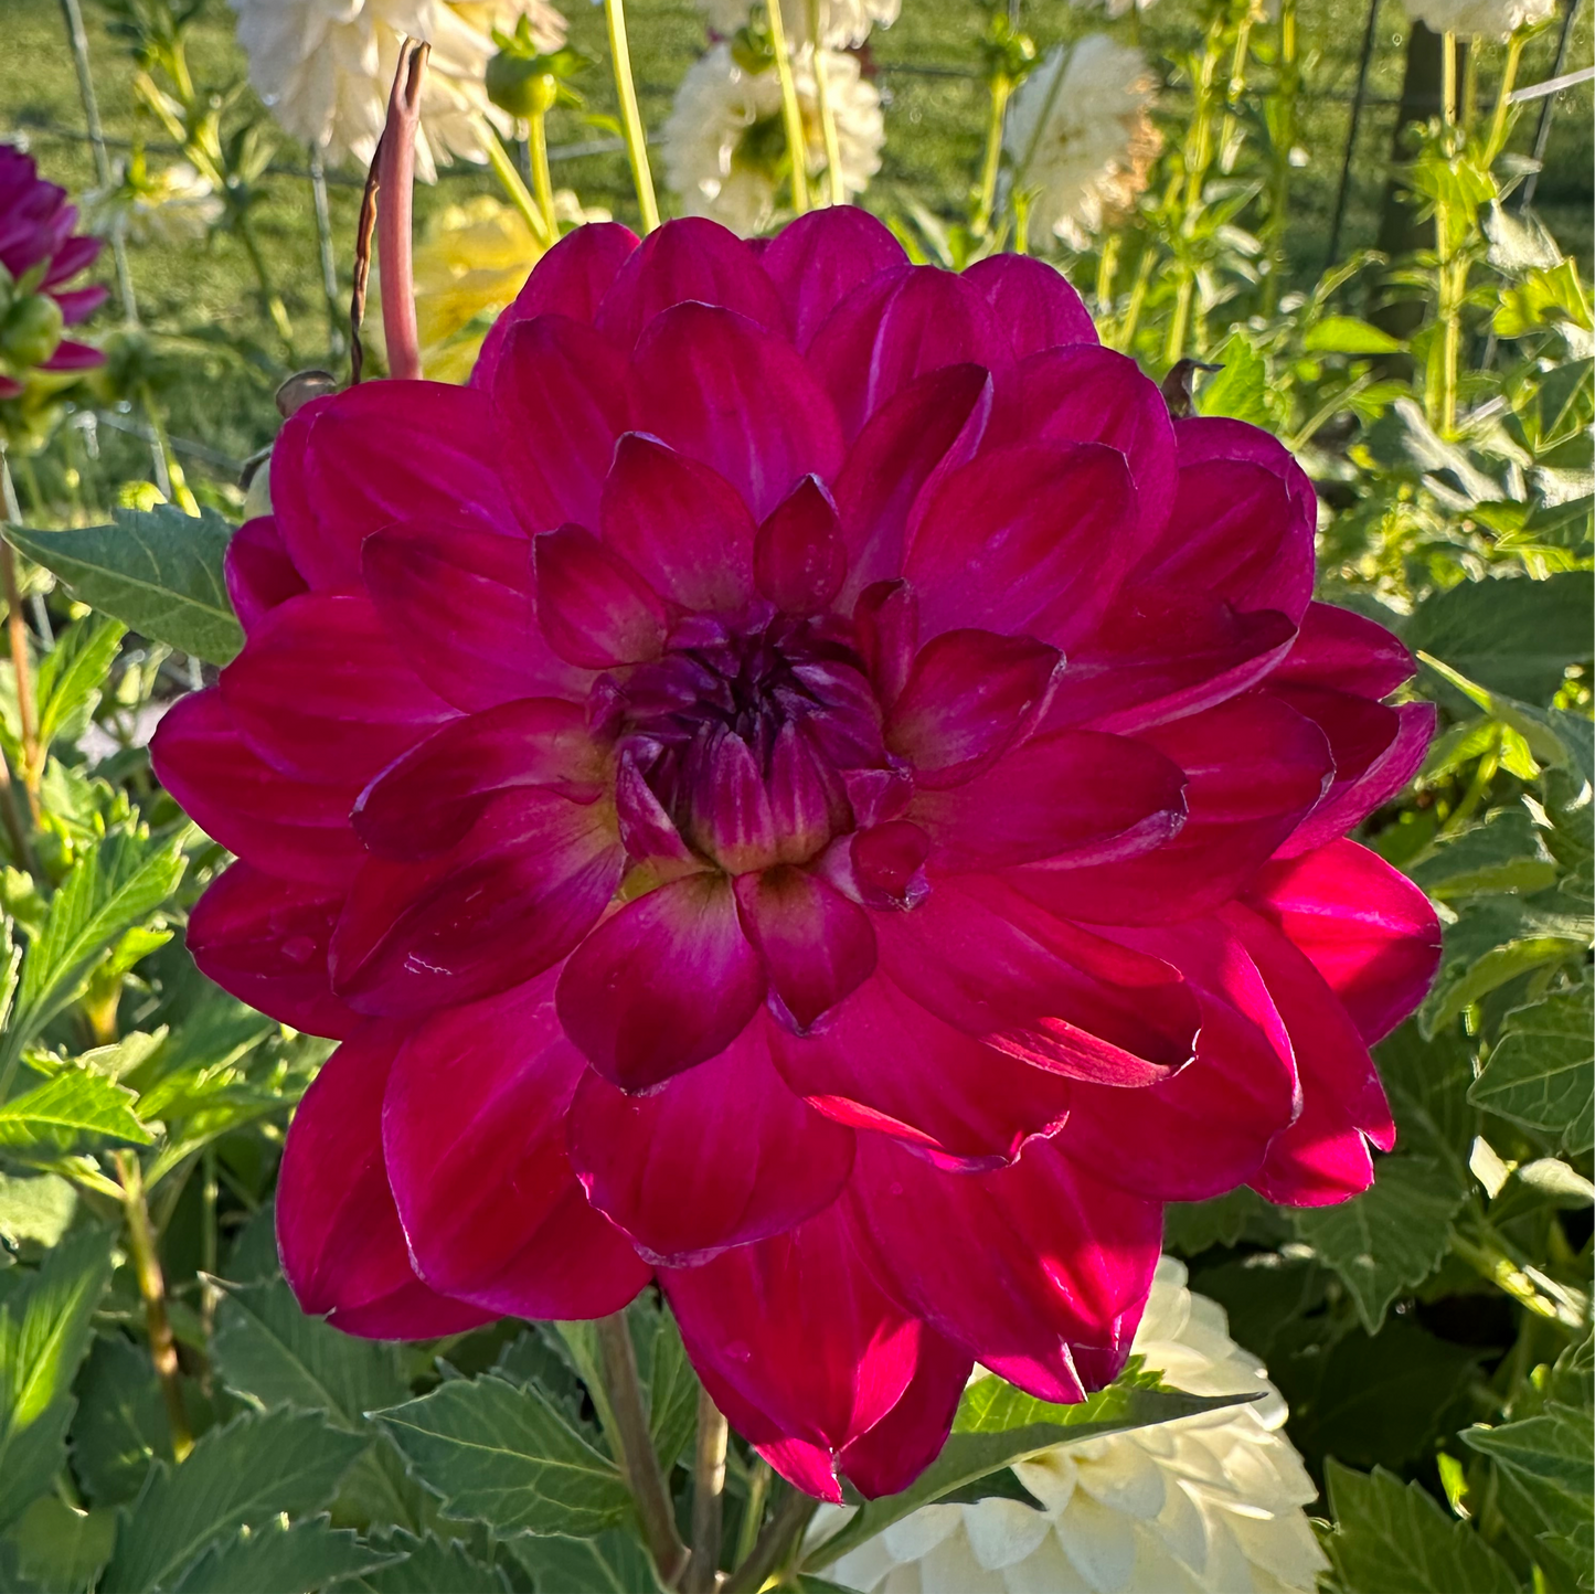
[[[826,49],[823,61],[842,188],[852,196],[863,193],[880,169],[885,142],[880,96],[858,70],[857,57]],[[807,169],[815,180],[825,171],[825,134],[813,51],[807,45],[793,59],[793,78],[802,109]],[[665,179],[689,215],[713,217],[743,238],[770,225],[786,158],[782,85],[774,65],[748,72],[731,45],[715,45],[681,80],[664,139]],[[817,195],[823,190],[818,182]]]

